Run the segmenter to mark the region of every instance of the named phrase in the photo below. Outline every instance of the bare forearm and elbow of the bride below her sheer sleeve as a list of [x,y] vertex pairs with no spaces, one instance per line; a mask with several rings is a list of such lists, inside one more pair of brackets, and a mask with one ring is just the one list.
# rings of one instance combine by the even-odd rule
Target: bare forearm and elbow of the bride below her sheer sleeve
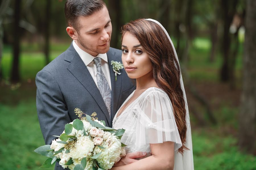
[[150,144],[152,156],[138,160],[129,165],[113,167],[111,170],[163,170],[174,167],[174,142]]

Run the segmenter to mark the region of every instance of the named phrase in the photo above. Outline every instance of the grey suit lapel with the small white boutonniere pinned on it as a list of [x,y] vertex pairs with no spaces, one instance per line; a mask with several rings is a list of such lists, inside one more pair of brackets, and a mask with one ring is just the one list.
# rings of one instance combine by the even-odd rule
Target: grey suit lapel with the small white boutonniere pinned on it
[[[115,73],[113,71],[113,67],[111,65],[111,61],[121,61],[121,58],[115,57],[115,53],[113,50],[110,50],[107,52],[108,56],[108,64],[110,69],[110,79],[111,79],[111,126],[112,126],[112,120],[116,114],[117,111],[117,104],[121,92],[121,82],[122,82],[122,76],[117,75],[117,80],[115,81]],[[121,61],[122,62],[122,61]]]

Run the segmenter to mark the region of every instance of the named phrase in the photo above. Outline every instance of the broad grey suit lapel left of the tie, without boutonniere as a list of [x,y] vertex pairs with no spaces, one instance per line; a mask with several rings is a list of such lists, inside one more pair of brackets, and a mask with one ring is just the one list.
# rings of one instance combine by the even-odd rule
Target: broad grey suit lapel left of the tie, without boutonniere
[[[72,49],[73,48],[73,49]],[[67,67],[67,69],[77,78],[77,80],[86,88],[86,90],[92,95],[96,103],[99,105],[102,112],[105,114],[108,124],[111,124],[111,120],[109,117],[108,109],[104,103],[104,100],[101,97],[100,91],[98,90],[90,72],[87,67],[84,65],[84,62],[80,58],[80,56],[75,51],[73,45],[71,44],[69,48],[69,55],[74,56],[72,61]],[[65,59],[68,61],[67,59]],[[112,86],[113,87],[113,86]],[[99,97],[100,96],[100,97]],[[93,106],[92,106],[93,107]]]

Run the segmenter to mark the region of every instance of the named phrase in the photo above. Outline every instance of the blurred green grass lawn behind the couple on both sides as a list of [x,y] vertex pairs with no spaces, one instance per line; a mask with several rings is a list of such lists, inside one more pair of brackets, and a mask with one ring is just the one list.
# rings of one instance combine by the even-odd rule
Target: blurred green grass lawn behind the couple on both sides
[[[61,54],[69,45],[70,43],[53,44],[51,59]],[[210,63],[209,49],[208,39],[197,38],[193,41],[188,63],[189,76],[193,81],[218,82],[222,58],[217,53],[216,60]],[[44,145],[36,113],[34,78],[36,73],[45,66],[45,60],[44,55],[38,50],[40,46],[36,44],[22,44],[20,85],[9,84],[11,48],[5,46],[3,51],[2,68],[5,83],[0,84],[0,169],[39,169],[46,159],[33,152],[38,146]],[[238,73],[242,68],[241,54],[240,48],[236,62]],[[214,110],[219,124],[217,126],[209,124],[205,127],[197,127],[195,118],[191,114],[195,170],[256,169],[256,157],[240,152],[236,136],[224,131],[226,127],[238,129],[237,114],[237,106],[223,103]]]

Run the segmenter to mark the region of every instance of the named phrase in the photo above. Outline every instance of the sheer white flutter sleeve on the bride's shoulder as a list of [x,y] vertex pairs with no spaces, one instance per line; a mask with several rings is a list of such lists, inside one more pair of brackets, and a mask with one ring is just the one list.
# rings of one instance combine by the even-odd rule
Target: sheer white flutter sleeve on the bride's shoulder
[[138,104],[135,146],[172,141],[174,150],[179,149],[182,143],[168,95],[152,90]]

